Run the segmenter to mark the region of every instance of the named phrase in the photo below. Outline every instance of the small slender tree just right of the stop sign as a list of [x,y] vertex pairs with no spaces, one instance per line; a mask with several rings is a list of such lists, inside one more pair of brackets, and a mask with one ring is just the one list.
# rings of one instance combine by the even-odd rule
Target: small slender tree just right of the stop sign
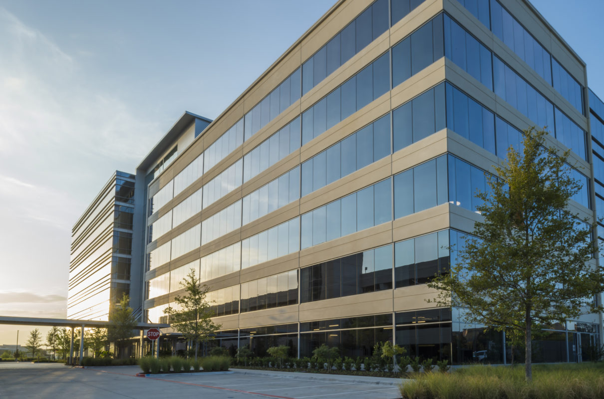
[[205,284],[201,286],[194,269],[191,269],[182,279],[181,287],[185,289],[186,294],[174,298],[178,308],[168,307],[164,313],[170,315],[172,327],[194,343],[195,360],[197,360],[199,343],[213,339],[220,324],[214,324],[211,319],[213,312],[210,302],[206,299],[210,289]]

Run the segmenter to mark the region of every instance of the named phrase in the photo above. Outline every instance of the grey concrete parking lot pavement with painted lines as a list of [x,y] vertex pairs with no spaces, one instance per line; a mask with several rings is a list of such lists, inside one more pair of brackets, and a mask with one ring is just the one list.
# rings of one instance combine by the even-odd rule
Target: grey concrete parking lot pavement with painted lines
[[0,363],[0,398],[399,398],[394,378],[233,369],[135,377],[137,366],[71,368]]

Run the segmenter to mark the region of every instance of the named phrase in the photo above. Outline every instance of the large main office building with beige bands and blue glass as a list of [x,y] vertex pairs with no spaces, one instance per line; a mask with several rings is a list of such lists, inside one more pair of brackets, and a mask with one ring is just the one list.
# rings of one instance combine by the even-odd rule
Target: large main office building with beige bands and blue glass
[[[216,120],[185,112],[138,166],[145,321],[168,321],[193,269],[222,326],[213,343],[233,352],[364,357],[390,340],[509,362],[504,334],[428,304],[426,282],[530,126],[571,150],[570,210],[602,212],[604,106],[587,93],[585,63],[528,1],[338,1]],[[533,358],[580,361],[598,342],[602,317],[585,314],[543,330]]]

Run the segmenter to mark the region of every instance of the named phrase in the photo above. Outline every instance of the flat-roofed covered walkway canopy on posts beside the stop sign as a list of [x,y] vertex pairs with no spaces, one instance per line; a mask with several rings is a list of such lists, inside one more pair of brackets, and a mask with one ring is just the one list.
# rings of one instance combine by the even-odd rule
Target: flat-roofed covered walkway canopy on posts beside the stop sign
[[[71,345],[69,346],[69,364],[73,364],[74,352],[74,330],[77,327],[82,328],[80,333],[80,366],[82,365],[82,356],[84,354],[84,328],[109,327],[108,321],[100,320],[78,320],[78,319],[45,319],[45,318],[20,318],[15,316],[0,316],[0,324],[13,325],[39,325],[48,327],[71,327]],[[150,324],[138,322],[134,326],[135,330],[148,330],[149,328],[168,328],[169,324]]]

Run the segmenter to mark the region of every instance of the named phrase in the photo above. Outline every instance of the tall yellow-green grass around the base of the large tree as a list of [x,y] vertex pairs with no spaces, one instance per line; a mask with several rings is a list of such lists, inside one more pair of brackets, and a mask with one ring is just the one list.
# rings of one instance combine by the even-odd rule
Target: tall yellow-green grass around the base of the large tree
[[533,365],[533,381],[524,365],[469,366],[448,374],[419,375],[400,388],[405,399],[602,399],[604,363]]

